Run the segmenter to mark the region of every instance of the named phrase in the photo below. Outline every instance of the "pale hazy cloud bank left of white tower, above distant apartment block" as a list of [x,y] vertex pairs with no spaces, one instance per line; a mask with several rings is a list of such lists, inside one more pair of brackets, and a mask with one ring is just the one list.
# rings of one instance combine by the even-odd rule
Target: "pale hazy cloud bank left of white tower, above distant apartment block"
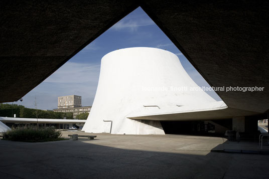
[[82,106],[92,105],[96,93],[100,65],[67,62],[44,82],[23,97],[17,104],[39,109],[57,108],[58,96],[82,96]]

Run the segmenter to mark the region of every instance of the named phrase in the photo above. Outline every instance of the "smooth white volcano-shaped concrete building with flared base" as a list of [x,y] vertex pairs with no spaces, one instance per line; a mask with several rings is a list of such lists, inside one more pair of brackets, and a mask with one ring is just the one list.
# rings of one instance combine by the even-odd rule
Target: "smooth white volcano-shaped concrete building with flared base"
[[[126,118],[142,110],[171,109],[177,105],[215,102],[203,91],[173,91],[171,87],[198,87],[178,57],[155,48],[127,48],[106,54],[101,60],[98,87],[91,112],[82,130],[114,134],[164,134],[159,121]],[[165,89],[167,88],[167,89]],[[159,90],[158,90],[159,89]]]

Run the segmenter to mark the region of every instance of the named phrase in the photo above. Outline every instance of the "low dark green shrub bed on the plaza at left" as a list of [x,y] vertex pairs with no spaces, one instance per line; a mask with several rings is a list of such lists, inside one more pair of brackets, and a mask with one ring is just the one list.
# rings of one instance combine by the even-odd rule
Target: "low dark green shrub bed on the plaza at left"
[[21,142],[48,142],[65,140],[61,138],[62,134],[53,127],[47,128],[23,128],[18,127],[9,130],[3,134],[3,140],[21,141]]

